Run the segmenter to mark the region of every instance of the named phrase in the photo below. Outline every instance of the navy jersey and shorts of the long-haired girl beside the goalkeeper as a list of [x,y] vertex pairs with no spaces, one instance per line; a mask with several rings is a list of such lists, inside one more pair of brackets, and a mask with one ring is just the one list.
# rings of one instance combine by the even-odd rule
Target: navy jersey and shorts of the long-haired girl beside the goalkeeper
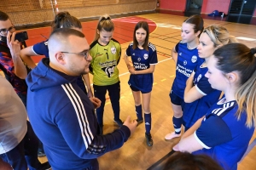
[[[158,63],[156,48],[152,43],[148,43],[148,51],[140,48],[133,49],[132,46],[133,43],[128,46],[126,55],[131,56],[131,61],[136,71],[146,70],[150,65]],[[152,90],[153,82],[153,73],[131,75],[128,81],[130,86],[144,92]]]

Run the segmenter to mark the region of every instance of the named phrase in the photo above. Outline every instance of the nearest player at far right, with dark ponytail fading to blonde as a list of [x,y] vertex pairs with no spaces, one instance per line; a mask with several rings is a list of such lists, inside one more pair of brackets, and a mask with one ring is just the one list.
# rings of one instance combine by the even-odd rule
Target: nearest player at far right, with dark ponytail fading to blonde
[[237,168],[256,123],[255,54],[256,48],[241,43],[216,49],[207,62],[206,77],[224,98],[183,134],[173,150],[207,154],[224,169]]

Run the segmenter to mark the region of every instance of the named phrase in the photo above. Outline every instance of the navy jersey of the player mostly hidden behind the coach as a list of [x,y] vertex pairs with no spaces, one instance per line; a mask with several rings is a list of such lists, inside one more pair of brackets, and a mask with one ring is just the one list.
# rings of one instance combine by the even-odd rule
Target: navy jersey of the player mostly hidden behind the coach
[[[48,40],[36,43],[32,46],[32,50],[35,54],[44,55],[45,57],[49,58]],[[79,88],[81,88],[84,93],[87,94],[82,77],[78,77],[77,84],[79,85]]]

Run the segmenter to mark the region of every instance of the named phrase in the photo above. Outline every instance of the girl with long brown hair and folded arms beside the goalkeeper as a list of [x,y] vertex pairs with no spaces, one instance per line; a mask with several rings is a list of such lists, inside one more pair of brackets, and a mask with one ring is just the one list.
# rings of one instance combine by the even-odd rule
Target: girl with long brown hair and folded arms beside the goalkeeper
[[[153,145],[151,130],[151,111],[149,108],[151,91],[153,86],[153,72],[157,64],[156,48],[148,42],[149,29],[148,23],[140,21],[137,23],[133,33],[133,42],[126,49],[124,56],[125,63],[131,73],[129,85],[135,101],[138,124],[143,122],[143,111],[146,128],[146,141],[148,146]],[[132,66],[128,57],[131,56]],[[141,93],[143,96],[143,110]]]

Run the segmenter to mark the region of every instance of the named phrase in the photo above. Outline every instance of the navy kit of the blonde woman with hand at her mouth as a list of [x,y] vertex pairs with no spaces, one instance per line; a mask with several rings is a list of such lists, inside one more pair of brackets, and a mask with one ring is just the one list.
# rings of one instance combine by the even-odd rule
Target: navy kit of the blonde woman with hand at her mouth
[[204,96],[183,105],[183,125],[186,128],[192,127],[198,119],[205,116],[209,108],[217,103],[220,97],[221,91],[213,89],[208,78],[205,77],[207,71],[208,68],[202,65],[197,65],[195,68],[194,86]]

